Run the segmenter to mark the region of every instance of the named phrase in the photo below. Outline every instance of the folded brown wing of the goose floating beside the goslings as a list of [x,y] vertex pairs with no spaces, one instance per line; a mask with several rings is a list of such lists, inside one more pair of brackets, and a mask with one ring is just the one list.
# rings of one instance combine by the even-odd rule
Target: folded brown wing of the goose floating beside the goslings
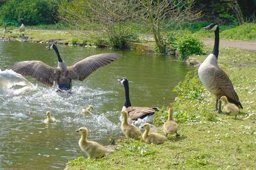
[[154,115],[154,113],[157,111],[157,108],[148,108],[148,107],[135,107],[130,106],[126,109],[128,112],[129,118],[131,120],[137,120],[138,118],[144,118],[148,115]]

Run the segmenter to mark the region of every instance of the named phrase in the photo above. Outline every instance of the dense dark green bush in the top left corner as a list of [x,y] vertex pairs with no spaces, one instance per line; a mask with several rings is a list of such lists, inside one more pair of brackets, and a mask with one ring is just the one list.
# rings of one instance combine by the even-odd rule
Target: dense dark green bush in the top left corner
[[4,25],[53,24],[56,22],[58,5],[47,0],[10,0],[1,6]]

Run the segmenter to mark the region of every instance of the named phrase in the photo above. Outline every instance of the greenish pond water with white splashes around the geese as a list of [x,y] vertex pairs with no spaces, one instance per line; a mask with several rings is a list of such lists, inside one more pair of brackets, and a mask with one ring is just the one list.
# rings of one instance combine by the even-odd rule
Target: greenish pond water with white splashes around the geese
[[[56,67],[54,50],[45,44],[0,41],[2,71],[20,60],[42,60]],[[73,81],[72,95],[56,93],[33,78],[35,90],[0,94],[0,169],[63,169],[82,152],[75,131],[88,127],[88,138],[109,145],[109,136],[122,135],[120,110],[124,87],[118,78],[126,77],[134,106],[166,106],[175,98],[171,90],[192,70],[173,57],[154,53],[114,51],[58,45],[60,55],[70,66],[97,53],[116,52],[122,57],[92,73],[84,81]],[[83,106],[93,104],[92,115],[83,115]],[[45,126],[45,111],[51,111],[56,124]]]

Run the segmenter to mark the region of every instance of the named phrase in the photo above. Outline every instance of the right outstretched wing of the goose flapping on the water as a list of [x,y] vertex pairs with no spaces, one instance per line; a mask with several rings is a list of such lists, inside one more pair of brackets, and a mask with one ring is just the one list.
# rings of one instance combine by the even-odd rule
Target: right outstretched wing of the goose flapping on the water
[[83,59],[68,67],[68,76],[73,80],[83,81],[93,71],[103,67],[120,57],[118,53],[100,53]]

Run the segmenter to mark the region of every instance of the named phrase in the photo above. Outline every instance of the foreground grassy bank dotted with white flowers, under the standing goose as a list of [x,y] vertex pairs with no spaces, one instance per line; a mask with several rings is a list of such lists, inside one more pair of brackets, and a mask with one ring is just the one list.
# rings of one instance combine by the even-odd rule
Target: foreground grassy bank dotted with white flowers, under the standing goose
[[[205,52],[211,49],[205,47]],[[204,60],[206,55],[193,57]],[[68,162],[68,169],[254,169],[256,53],[220,48],[219,63],[230,76],[244,107],[237,119],[211,112],[215,99],[204,89],[195,71],[175,89],[179,138],[169,136],[163,145],[122,140],[115,152],[106,157],[97,160],[78,157]],[[161,125],[166,117],[163,108],[163,113],[157,113],[154,120],[162,134]]]

